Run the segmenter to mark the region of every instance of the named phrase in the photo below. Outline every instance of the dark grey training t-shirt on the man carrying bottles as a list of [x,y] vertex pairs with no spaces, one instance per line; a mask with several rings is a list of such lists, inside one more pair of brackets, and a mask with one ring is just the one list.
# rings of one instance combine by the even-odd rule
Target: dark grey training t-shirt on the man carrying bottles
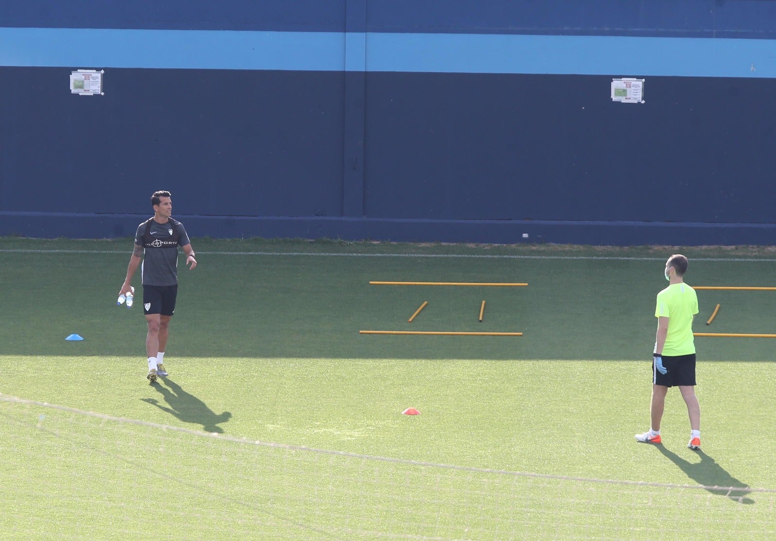
[[173,219],[166,224],[158,224],[153,218],[146,220],[137,227],[135,244],[144,248],[140,267],[144,286],[178,283],[178,246],[191,244],[183,224]]

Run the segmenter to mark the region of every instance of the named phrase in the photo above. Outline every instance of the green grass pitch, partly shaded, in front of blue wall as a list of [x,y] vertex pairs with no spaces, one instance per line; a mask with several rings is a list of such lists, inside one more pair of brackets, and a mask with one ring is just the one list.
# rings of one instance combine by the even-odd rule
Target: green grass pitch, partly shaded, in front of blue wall
[[[663,446],[633,439],[667,256],[774,286],[769,248],[194,239],[149,385],[140,294],[116,307],[131,242],[0,238],[8,539],[776,535],[776,339],[696,338],[702,453],[675,390]],[[776,292],[698,300],[695,331],[776,333]]]

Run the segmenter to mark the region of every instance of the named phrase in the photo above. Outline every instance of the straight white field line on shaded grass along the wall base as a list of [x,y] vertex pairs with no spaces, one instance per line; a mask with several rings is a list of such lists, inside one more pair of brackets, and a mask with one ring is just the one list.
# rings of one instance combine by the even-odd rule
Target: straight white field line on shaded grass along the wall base
[[[470,258],[470,259],[567,259],[602,261],[665,261],[664,257],[646,258],[627,255],[509,255],[509,254],[358,254],[343,252],[311,252],[311,251],[205,251],[197,250],[206,255],[270,255],[270,256],[324,256],[324,257],[357,257],[357,258]],[[131,255],[131,250],[31,250],[28,248],[0,249],[5,254],[123,254]],[[774,263],[776,258],[691,258],[693,261],[708,262],[767,262]]]

